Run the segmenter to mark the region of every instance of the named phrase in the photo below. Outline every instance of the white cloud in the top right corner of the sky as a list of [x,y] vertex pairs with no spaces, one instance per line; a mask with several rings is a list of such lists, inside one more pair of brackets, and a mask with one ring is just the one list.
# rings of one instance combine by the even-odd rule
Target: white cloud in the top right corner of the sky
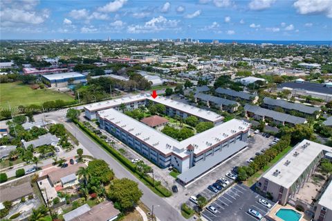
[[301,15],[323,14],[332,18],[331,0],[297,0],[293,6]]

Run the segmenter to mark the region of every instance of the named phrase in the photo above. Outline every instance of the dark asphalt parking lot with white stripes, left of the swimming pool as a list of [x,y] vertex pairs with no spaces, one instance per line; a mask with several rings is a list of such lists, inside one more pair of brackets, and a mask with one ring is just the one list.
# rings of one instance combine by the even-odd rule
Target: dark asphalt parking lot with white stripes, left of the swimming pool
[[257,219],[248,214],[248,209],[258,211],[263,217],[270,211],[270,209],[259,204],[259,199],[268,201],[272,205],[271,208],[275,205],[274,202],[255,193],[248,186],[237,184],[229,188],[210,204],[216,208],[216,214],[205,209],[201,213],[202,218],[208,221],[255,221]]

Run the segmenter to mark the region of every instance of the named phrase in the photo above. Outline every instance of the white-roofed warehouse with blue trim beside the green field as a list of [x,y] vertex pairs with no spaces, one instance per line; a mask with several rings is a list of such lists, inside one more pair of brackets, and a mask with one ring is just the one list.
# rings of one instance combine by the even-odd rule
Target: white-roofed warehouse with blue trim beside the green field
[[67,87],[68,85],[86,83],[86,76],[77,72],[55,73],[44,75],[42,77],[46,85],[49,87]]

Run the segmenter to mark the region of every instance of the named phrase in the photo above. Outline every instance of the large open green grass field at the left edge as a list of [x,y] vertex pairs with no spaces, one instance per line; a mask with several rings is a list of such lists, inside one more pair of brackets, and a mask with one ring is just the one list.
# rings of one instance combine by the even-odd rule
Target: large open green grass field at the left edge
[[40,105],[50,100],[74,100],[68,94],[52,91],[50,89],[31,89],[29,85],[20,82],[0,84],[0,107],[1,109],[18,107],[19,105]]

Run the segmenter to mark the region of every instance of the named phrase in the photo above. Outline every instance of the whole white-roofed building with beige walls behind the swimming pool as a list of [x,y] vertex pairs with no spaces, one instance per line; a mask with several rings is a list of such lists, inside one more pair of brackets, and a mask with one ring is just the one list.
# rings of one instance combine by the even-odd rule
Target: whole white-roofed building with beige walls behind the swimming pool
[[[263,193],[271,195],[273,201],[284,205],[289,198],[294,197],[299,192],[300,188],[304,187],[327,152],[332,152],[332,148],[305,139],[295,145],[275,166],[267,170],[259,178],[256,186]],[[329,190],[331,191],[331,188]],[[331,192],[326,194],[330,197],[329,207],[331,209]],[[322,206],[326,202],[326,199],[324,199],[324,197],[321,198]],[[318,220],[322,221],[324,219]]]

